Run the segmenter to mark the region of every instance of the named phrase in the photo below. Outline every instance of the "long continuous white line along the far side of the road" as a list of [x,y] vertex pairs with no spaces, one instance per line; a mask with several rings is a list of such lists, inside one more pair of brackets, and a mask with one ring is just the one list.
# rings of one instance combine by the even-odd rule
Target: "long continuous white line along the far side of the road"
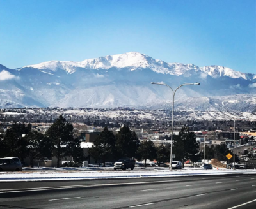
[[24,189],[1,189],[0,194],[13,193],[13,192],[34,192],[34,191],[45,191],[54,189],[71,189],[81,187],[107,187],[115,185],[134,185],[134,184],[150,184],[150,183],[166,183],[166,182],[179,182],[180,180],[167,180],[167,181],[154,181],[154,182],[127,182],[127,183],[114,183],[114,184],[88,184],[88,185],[71,185],[61,187],[38,187],[38,188],[24,188]]

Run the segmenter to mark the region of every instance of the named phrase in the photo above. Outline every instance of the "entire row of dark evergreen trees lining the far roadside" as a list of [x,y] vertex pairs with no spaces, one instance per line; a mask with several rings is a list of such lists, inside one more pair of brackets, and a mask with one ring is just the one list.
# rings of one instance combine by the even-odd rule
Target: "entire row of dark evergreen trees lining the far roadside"
[[[6,130],[4,137],[0,135],[0,157],[15,156],[21,161],[29,157],[31,166],[34,160],[44,157],[57,158],[57,166],[61,166],[63,157],[73,157],[76,164],[81,164],[86,158],[80,147],[81,139],[74,138],[73,126],[60,115],[49,127],[45,134],[32,130],[31,124],[27,126],[13,122],[12,127]],[[186,160],[198,162],[203,158],[199,150],[200,143],[196,141],[195,133],[188,127],[183,127],[178,135],[173,135],[173,155],[175,161]],[[140,141],[129,126],[120,127],[114,134],[108,127],[97,136],[92,148],[88,150],[90,157],[96,162],[104,164],[115,162],[122,157],[130,157],[138,161],[156,160],[158,164],[170,162],[170,144],[154,145],[151,140]],[[205,159],[217,158],[220,161],[228,154],[226,145],[205,147]]]

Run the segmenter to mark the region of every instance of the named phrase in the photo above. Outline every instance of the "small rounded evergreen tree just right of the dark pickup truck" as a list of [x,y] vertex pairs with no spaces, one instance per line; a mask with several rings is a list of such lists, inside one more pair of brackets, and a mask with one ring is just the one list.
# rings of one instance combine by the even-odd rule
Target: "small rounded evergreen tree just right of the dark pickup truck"
[[153,141],[151,140],[144,140],[141,142],[140,147],[138,148],[138,160],[144,160],[145,167],[146,167],[146,161],[149,159],[150,161],[153,161],[156,159],[156,152],[157,149],[154,146]]

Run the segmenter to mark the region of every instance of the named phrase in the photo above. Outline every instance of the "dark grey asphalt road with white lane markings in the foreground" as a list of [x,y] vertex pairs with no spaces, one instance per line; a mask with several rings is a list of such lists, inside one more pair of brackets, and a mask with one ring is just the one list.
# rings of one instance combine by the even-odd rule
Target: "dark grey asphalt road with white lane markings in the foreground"
[[1,182],[0,208],[256,208],[256,175]]

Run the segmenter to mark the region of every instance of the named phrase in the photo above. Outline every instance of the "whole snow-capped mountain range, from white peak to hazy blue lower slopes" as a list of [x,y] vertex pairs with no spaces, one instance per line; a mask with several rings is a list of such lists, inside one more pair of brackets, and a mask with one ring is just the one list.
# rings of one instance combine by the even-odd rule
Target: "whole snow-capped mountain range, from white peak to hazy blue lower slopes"
[[42,62],[18,69],[0,65],[0,106],[157,108],[172,101],[170,89],[150,82],[164,82],[173,88],[182,83],[201,83],[180,88],[176,96],[179,101],[202,102],[212,96],[256,94],[254,74],[223,66],[167,63],[128,52],[81,62]]

